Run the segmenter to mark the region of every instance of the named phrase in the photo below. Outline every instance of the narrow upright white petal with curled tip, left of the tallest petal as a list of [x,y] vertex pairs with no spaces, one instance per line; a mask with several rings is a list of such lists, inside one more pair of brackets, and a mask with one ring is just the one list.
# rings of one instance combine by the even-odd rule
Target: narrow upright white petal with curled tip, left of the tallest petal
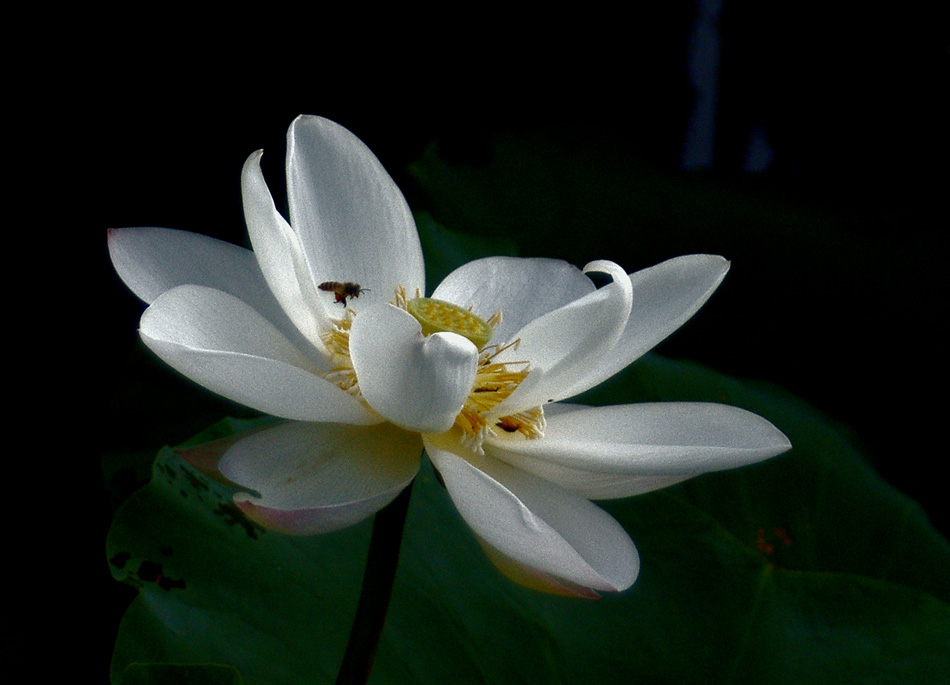
[[320,335],[331,328],[326,309],[329,300],[320,297],[297,234],[274,206],[260,160],[260,152],[252,154],[241,173],[244,217],[254,255],[271,291],[297,329],[314,347],[325,350]]

